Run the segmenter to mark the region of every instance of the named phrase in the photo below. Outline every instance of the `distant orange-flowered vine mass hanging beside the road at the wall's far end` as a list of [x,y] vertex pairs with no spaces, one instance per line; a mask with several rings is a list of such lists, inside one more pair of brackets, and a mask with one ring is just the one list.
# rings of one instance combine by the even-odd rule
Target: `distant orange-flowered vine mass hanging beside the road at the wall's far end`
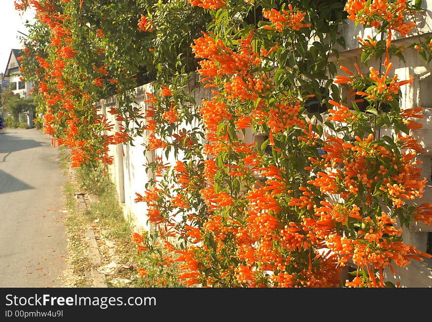
[[[39,94],[49,106],[45,116],[44,131],[53,136],[53,144],[65,145],[71,149],[72,166],[79,167],[85,163],[111,164],[108,146],[130,140],[125,128],[120,126],[118,132],[113,131],[113,124],[98,114],[93,106],[94,92],[104,88],[108,80],[107,65],[93,66],[93,70],[84,72],[79,67],[84,57],[74,40],[71,17],[68,10],[59,10],[60,6],[73,6],[70,1],[30,0],[21,1],[32,5],[36,10],[36,18],[50,30],[49,44],[51,49],[46,53],[33,53],[36,49],[26,48],[25,55],[33,54],[39,64],[36,69],[39,78]],[[80,2],[80,6],[82,6]],[[17,1],[18,3],[18,1]],[[62,12],[62,13],[60,13]],[[81,7],[80,7],[81,12]],[[102,29],[95,29],[94,34],[102,37]],[[94,49],[92,55],[101,58],[103,50]],[[115,82],[116,80],[110,80]],[[116,117],[118,120],[120,116]],[[108,134],[105,135],[104,131]]]

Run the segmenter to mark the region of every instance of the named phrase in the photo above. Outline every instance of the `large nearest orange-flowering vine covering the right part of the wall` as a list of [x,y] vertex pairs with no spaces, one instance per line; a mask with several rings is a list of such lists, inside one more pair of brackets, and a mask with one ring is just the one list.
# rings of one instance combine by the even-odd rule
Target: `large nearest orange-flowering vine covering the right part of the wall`
[[[354,2],[345,6],[349,18],[365,28],[387,30],[388,39],[391,30],[405,37],[414,27],[405,19],[404,1],[370,8]],[[189,286],[384,287],[386,267],[393,271],[394,265],[431,257],[405,245],[397,228],[397,222],[429,224],[431,218],[430,205],[412,204],[422,197],[426,182],[417,167],[421,162],[413,161],[422,147],[409,135],[419,128],[412,118],[422,116],[419,108],[400,110],[400,89],[412,78],[390,76],[391,41],[386,42],[384,73],[371,67],[365,75],[358,65],[357,74],[344,66],[348,75],[333,72],[334,84],[361,97],[349,103],[339,88],[331,87],[331,97],[321,89],[329,86],[335,69],[328,60],[321,65],[321,84],[310,76],[307,80],[303,58],[308,54],[301,44],[311,43],[316,20],[310,9],[302,11],[294,3],[289,11],[263,8],[264,20],[245,27],[226,17],[246,9],[205,8],[224,17],[192,44],[201,81],[212,89],[212,98],[199,108],[206,141],[204,168],[198,170],[202,176],[195,181],[208,214],[193,213],[185,200],[191,170],[177,161],[174,177],[189,184],[180,183],[172,199],[184,214],[183,225],[175,225],[186,242],[177,251],[184,270],[180,279]],[[247,9],[256,10],[256,4]],[[236,38],[218,28],[229,24],[238,30]],[[375,40],[368,41],[363,45],[374,48]],[[326,57],[330,47],[317,50],[308,58]],[[321,117],[308,113],[310,98],[319,98],[325,108]],[[356,104],[361,101],[368,105],[364,111]],[[371,117],[374,126],[368,125]],[[378,136],[380,127],[389,126],[395,129],[392,137]],[[267,139],[261,146],[246,142],[246,131]],[[161,198],[167,190],[161,192],[148,193]],[[161,231],[174,226],[169,209],[164,211],[168,216],[155,221]],[[357,267],[356,277],[341,281],[341,267],[349,261]]]

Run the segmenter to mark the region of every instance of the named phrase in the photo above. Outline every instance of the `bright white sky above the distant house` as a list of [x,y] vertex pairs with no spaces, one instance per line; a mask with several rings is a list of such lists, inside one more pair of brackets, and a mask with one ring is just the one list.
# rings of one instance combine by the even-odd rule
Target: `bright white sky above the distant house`
[[23,16],[15,10],[14,0],[0,0],[0,73],[4,73],[11,49],[22,49],[18,31],[27,33],[26,20],[31,21],[34,11],[27,11]]

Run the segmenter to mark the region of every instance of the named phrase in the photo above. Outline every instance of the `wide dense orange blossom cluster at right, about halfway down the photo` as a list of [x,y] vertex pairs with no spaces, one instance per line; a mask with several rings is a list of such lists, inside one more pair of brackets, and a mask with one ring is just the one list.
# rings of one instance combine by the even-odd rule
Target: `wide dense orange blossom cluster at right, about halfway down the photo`
[[[402,199],[421,197],[426,181],[418,179],[420,170],[415,166],[419,163],[410,161],[415,153],[406,152],[399,160],[393,159],[390,164],[382,163],[379,160],[390,158],[392,154],[384,146],[373,143],[372,138],[372,134],[367,140],[357,137],[353,145],[344,143],[339,138],[329,138],[328,144],[323,147],[327,152],[324,158],[332,165],[340,164],[343,168],[328,174],[320,172],[310,183],[320,187],[322,192],[332,191],[345,199],[350,193],[358,193],[361,186],[368,192],[366,205],[370,203],[371,190],[375,190],[377,182],[380,182],[377,189],[386,191],[398,208],[404,204]],[[381,170],[375,174],[370,173],[371,166]],[[387,171],[388,168],[393,170]]]

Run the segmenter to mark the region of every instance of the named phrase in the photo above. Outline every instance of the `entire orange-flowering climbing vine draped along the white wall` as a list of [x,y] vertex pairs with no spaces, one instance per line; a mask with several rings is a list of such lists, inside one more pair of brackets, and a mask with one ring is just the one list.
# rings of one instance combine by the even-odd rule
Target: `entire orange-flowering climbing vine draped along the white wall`
[[[109,164],[108,146],[148,137],[153,176],[135,201],[155,230],[134,240],[143,252],[154,234],[165,239],[171,255],[158,263],[178,263],[185,285],[385,287],[385,269],[431,257],[402,238],[432,222],[432,205],[412,136],[422,108],[401,108],[412,76],[393,69],[404,57],[392,36],[416,32],[419,3],[16,2],[37,9],[43,32],[30,40],[49,38],[27,46],[24,68],[73,164]],[[358,38],[351,69],[337,63],[347,19],[374,31]],[[428,62],[420,40],[412,47]],[[142,112],[131,93],[148,81]],[[198,90],[208,95],[196,100]],[[122,126],[104,135],[113,125],[93,103],[113,93]],[[347,264],[355,276],[342,280]]]

